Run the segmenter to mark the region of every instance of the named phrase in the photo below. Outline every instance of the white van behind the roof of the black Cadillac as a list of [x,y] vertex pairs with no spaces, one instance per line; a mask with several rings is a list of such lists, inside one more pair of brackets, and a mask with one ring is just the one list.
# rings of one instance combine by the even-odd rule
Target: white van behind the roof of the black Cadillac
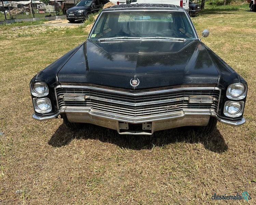
[[[122,0],[121,0],[122,1]],[[183,7],[185,10],[189,10],[189,0],[126,0],[126,4],[135,3],[162,3],[162,4],[173,4]],[[121,2],[120,2],[121,4]]]

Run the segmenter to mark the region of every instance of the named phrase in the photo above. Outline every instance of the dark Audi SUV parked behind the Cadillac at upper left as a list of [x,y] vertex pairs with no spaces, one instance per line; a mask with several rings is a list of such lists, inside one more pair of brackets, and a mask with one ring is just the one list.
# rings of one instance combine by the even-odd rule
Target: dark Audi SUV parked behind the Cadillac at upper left
[[69,22],[75,22],[75,20],[83,21],[91,13],[98,12],[108,2],[109,0],[81,0],[76,6],[67,10],[67,20]]

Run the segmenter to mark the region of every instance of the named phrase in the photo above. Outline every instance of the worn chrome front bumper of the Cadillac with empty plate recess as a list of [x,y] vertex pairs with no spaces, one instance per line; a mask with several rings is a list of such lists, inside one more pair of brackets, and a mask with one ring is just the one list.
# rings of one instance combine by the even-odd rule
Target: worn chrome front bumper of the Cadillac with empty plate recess
[[[182,126],[206,126],[211,116],[218,121],[231,126],[244,124],[245,119],[231,121],[221,119],[211,109],[183,109],[169,114],[153,115],[150,117],[131,118],[123,115],[110,114],[84,107],[61,107],[54,115],[39,116],[33,114],[33,118],[39,121],[57,118],[59,114],[66,113],[70,122],[90,123],[117,130],[119,134],[151,135],[154,131],[171,129]],[[130,124],[142,123],[141,132],[129,131]],[[148,125],[144,126],[144,125]],[[125,131],[127,129],[127,132]],[[145,131],[143,131],[145,129]]]

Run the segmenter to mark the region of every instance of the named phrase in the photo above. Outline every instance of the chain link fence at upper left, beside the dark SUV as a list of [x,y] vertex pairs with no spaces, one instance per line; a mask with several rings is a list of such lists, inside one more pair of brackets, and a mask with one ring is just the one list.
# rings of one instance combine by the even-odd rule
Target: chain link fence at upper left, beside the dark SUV
[[0,2],[0,21],[6,19],[36,18],[65,15],[68,8],[65,1],[2,1]]

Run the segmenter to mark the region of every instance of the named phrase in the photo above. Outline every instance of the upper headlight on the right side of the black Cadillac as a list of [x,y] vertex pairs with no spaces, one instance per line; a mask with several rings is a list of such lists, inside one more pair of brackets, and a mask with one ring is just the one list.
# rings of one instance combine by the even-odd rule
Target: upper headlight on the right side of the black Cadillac
[[230,99],[243,99],[246,96],[246,85],[244,83],[233,83],[228,86],[227,97]]

